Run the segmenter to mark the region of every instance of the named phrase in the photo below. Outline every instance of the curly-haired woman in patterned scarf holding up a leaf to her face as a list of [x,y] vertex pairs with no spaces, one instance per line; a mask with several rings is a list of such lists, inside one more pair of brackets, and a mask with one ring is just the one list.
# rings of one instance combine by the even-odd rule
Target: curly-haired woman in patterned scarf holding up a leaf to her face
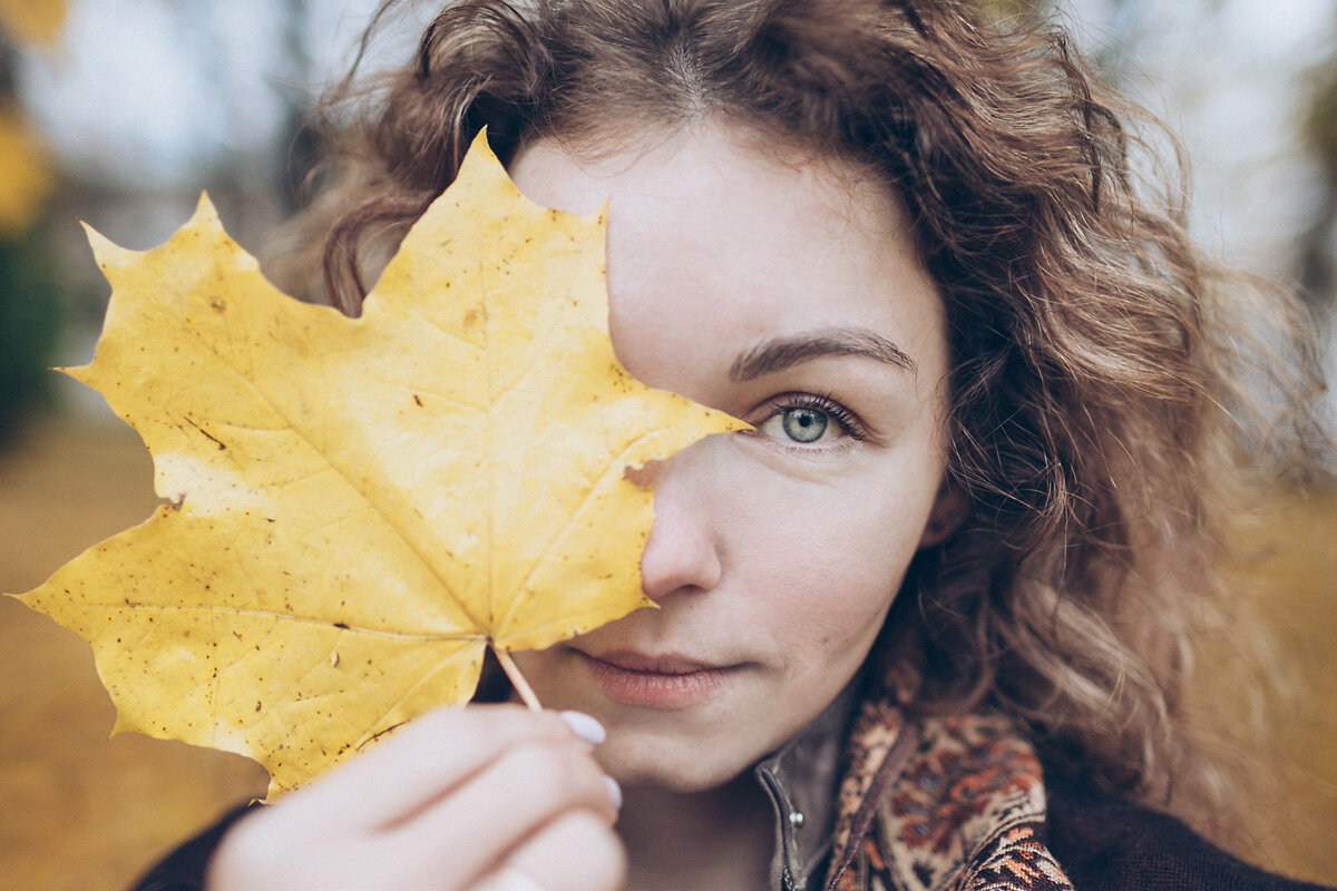
[[1211,828],[1189,627],[1269,472],[1243,422],[1309,461],[1306,335],[1146,198],[1059,35],[481,0],[377,99],[309,215],[338,306],[487,126],[535,202],[611,202],[627,369],[755,430],[656,470],[659,610],[516,655],[566,720],[424,717],[146,887],[1296,887],[1162,811]]

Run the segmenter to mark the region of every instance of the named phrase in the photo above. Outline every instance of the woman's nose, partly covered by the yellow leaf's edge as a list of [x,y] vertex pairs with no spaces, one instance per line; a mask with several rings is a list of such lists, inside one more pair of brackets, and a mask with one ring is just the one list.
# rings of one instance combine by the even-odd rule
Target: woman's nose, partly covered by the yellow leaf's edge
[[698,442],[673,460],[647,468],[655,497],[655,524],[640,554],[640,589],[651,600],[675,592],[710,590],[719,582],[719,553],[697,466],[702,445]]

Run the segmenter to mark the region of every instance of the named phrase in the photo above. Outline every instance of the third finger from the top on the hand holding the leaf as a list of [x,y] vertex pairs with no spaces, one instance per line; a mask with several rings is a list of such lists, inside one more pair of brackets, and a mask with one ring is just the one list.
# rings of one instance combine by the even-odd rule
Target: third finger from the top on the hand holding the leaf
[[588,811],[571,811],[525,839],[505,870],[543,891],[616,891],[627,858],[607,824]]

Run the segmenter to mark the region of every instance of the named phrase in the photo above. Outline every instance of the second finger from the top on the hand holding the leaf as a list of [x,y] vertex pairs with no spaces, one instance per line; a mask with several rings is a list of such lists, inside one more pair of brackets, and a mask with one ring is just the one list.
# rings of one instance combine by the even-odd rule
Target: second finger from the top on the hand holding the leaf
[[[396,831],[402,856],[437,852],[427,868],[455,871],[468,880],[503,863],[528,836],[554,819],[586,811],[611,826],[616,807],[608,780],[588,749],[563,743],[512,747],[451,796]],[[451,839],[449,850],[441,839]]]

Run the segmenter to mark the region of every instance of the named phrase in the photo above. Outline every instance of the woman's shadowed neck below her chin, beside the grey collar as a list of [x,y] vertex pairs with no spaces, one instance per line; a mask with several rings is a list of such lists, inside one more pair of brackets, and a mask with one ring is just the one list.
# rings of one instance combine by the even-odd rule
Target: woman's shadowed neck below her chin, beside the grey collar
[[769,887],[771,811],[751,771],[705,792],[628,788],[618,818],[627,888]]

